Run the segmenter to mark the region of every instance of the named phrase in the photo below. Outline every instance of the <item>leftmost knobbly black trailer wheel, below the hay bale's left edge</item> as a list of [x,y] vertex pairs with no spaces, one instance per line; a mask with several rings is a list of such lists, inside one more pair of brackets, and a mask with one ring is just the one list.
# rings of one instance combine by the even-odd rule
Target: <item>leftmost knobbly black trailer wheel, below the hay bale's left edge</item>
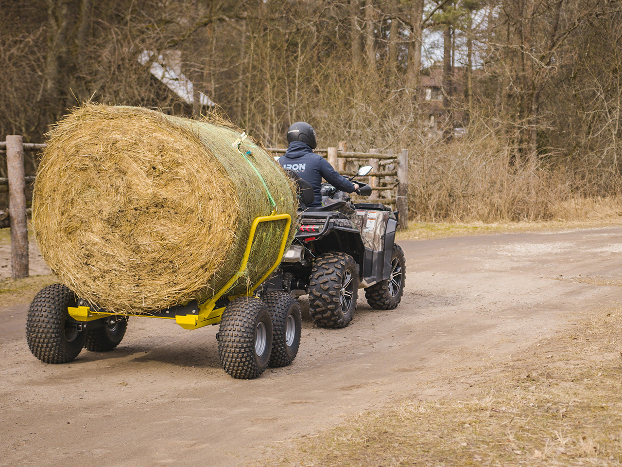
[[44,363],[67,363],[80,354],[86,339],[81,323],[69,316],[75,294],[63,284],[42,288],[30,303],[26,340],[30,352]]

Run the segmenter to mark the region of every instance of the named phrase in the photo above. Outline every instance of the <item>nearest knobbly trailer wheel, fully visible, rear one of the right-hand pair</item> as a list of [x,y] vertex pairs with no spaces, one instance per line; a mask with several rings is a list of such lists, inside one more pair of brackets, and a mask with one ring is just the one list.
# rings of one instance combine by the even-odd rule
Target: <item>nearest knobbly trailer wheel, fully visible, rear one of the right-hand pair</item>
[[253,379],[268,365],[272,321],[266,304],[253,297],[231,301],[223,312],[217,335],[223,369],[236,379]]

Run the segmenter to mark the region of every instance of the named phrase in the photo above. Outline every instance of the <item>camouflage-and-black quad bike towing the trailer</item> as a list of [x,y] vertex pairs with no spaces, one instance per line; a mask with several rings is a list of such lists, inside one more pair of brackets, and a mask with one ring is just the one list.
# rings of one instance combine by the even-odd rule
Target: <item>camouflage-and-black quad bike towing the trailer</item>
[[[366,176],[363,166],[355,176]],[[309,294],[309,311],[321,328],[345,328],[356,308],[359,288],[374,309],[394,309],[400,303],[406,280],[406,258],[395,243],[397,212],[384,204],[357,203],[330,184],[323,184],[320,207],[308,182],[286,171],[299,193],[299,228],[281,265],[262,285],[264,291]],[[373,189],[360,185],[356,194],[369,196]]]

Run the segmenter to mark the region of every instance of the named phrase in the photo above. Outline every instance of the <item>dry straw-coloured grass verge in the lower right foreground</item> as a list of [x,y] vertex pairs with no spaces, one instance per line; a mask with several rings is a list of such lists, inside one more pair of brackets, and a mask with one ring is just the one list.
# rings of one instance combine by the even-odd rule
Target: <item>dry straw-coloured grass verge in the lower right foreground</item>
[[622,311],[592,316],[508,363],[476,369],[474,398],[406,399],[295,440],[297,448],[258,465],[620,466]]

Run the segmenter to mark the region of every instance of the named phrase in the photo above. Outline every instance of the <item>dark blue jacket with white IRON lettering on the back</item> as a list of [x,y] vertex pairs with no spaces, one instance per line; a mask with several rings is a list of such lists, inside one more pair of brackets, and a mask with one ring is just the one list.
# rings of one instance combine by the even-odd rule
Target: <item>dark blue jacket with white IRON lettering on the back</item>
[[309,207],[322,205],[322,194],[320,194],[322,177],[341,191],[351,193],[355,190],[355,186],[350,180],[341,176],[326,159],[320,154],[313,153],[311,146],[302,141],[289,143],[285,155],[279,158],[279,164],[284,169],[293,170],[300,178],[311,184],[315,199],[311,204],[307,204]]

